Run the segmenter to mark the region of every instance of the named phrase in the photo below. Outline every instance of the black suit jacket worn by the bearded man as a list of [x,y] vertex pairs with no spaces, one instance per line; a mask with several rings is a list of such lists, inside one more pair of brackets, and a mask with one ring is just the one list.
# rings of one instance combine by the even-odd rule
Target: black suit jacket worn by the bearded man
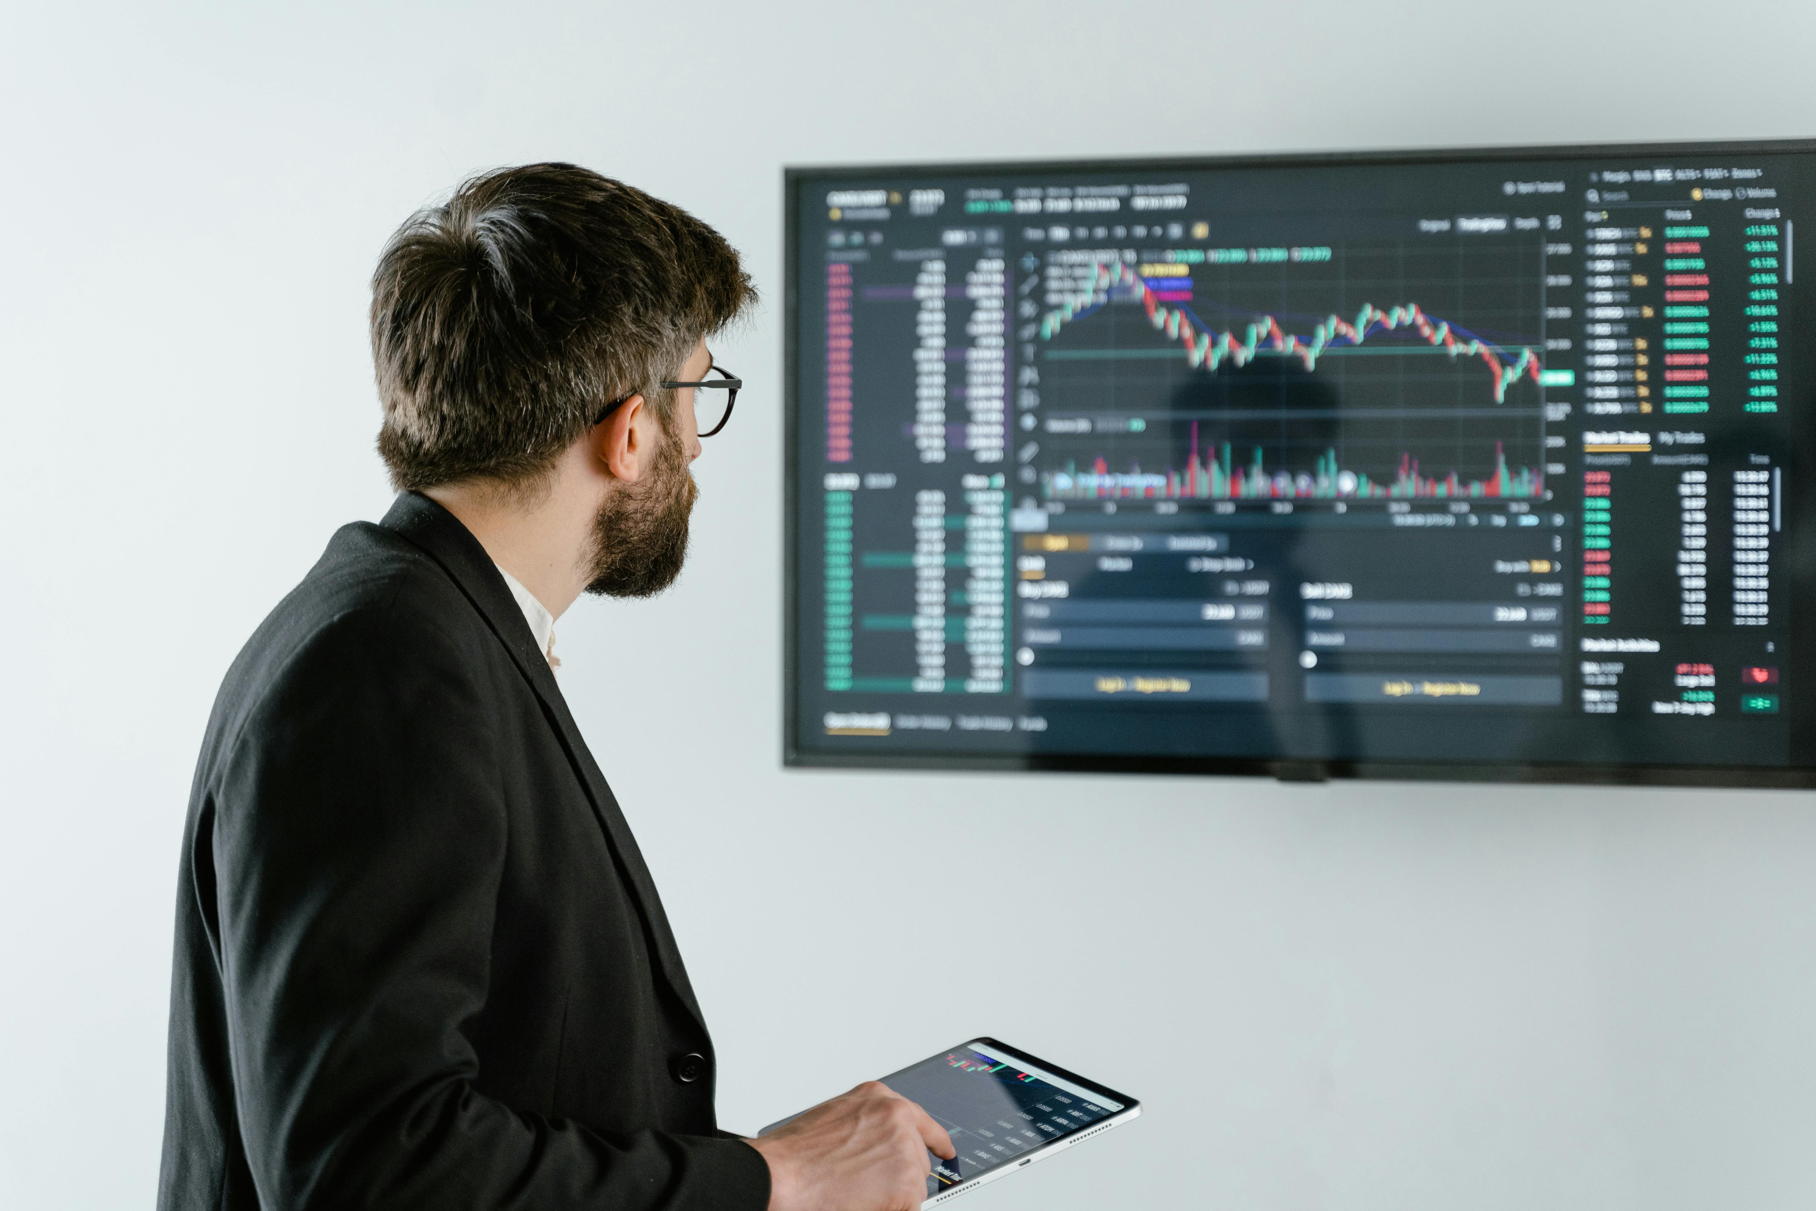
[[414,494],[341,528],[202,746],[160,1209],[763,1211],[712,1089],[656,886],[485,548]]

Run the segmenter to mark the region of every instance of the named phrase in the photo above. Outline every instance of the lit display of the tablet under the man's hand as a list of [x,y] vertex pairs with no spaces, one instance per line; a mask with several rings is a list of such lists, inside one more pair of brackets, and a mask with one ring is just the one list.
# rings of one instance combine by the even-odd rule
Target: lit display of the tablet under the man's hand
[[959,1182],[1013,1166],[1044,1144],[1084,1131],[1124,1109],[1084,1086],[975,1048],[953,1048],[883,1084],[912,1102],[952,1137],[953,1160],[933,1158],[928,1198]]

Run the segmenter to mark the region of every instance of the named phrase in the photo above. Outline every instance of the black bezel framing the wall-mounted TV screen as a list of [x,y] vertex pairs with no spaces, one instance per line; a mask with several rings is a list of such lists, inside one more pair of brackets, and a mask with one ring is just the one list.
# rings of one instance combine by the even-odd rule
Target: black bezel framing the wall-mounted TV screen
[[[1204,169],[1295,169],[1362,165],[1495,163],[1505,160],[1609,160],[1638,156],[1711,154],[1816,154],[1816,138],[1700,140],[1649,143],[1567,143],[1511,147],[1435,147],[1386,151],[1240,153],[1209,156],[1140,156],[1081,160],[961,160],[884,162],[839,165],[790,165],[783,169],[783,764],[830,770],[953,770],[953,772],[1086,772],[1086,773],[1219,773],[1322,783],[1333,777],[1449,783],[1554,783],[1582,786],[1702,786],[1809,790],[1816,766],[1669,766],[1642,763],[1533,763],[1533,761],[1349,761],[1302,757],[1171,757],[1139,753],[886,753],[808,752],[799,737],[799,626],[801,566],[799,527],[799,425],[801,425],[801,290],[797,281],[797,229],[803,182],[837,182],[888,174],[988,174],[988,172],[1170,172]],[[1800,508],[1809,525],[1816,510]],[[1791,552],[1787,552],[1789,563]],[[1792,608],[1809,599],[1800,592],[1809,576],[1791,568]],[[1794,668],[1816,643],[1792,632]],[[1792,714],[1796,721],[1796,714]]]

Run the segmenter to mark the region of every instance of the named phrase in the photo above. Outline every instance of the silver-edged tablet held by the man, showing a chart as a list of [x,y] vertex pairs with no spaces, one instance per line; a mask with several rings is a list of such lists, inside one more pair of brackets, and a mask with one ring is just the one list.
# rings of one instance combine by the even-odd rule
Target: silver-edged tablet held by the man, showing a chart
[[972,1039],[883,1084],[932,1115],[957,1151],[952,1160],[928,1153],[923,1211],[1140,1115],[1135,1098],[995,1039]]

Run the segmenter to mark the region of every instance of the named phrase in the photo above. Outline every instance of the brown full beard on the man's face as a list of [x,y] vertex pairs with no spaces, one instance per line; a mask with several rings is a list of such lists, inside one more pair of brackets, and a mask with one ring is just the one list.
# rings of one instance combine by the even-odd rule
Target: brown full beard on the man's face
[[694,483],[677,436],[665,432],[650,474],[619,485],[592,523],[592,576],[601,597],[654,597],[681,576]]

